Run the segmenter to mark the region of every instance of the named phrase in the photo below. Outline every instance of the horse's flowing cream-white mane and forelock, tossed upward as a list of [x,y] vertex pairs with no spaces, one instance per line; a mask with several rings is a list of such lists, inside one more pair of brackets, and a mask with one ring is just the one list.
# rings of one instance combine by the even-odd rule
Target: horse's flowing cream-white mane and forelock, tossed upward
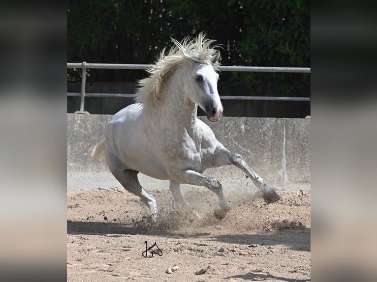
[[[199,63],[211,63],[211,57],[218,51],[210,48],[210,45],[216,40],[209,40],[202,32],[193,41],[186,37],[182,43],[171,38],[174,45],[165,54],[166,48],[162,50],[157,57],[157,62],[147,69],[150,74],[148,78],[138,81],[139,89],[137,90],[136,103],[141,103],[143,107],[157,107],[161,97],[162,88],[167,77],[177,67],[183,65],[188,60]],[[216,48],[217,46],[214,46]],[[216,70],[218,62],[212,64]]]

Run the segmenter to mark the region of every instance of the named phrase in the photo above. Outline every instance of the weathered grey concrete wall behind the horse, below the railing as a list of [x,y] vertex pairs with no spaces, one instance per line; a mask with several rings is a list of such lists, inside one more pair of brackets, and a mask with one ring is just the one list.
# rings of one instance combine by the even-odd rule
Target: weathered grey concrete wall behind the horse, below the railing
[[[111,115],[67,113],[68,188],[120,186],[108,169],[95,165],[90,157],[96,142],[104,137]],[[222,117],[210,123],[217,139],[230,151],[240,153],[249,166],[276,189],[310,189],[310,118]],[[233,166],[208,169],[224,189],[250,189],[250,179]],[[140,175],[140,182],[154,181]],[[148,178],[148,179],[147,179]],[[153,182],[154,188],[168,183]],[[150,187],[148,187],[150,188]]]

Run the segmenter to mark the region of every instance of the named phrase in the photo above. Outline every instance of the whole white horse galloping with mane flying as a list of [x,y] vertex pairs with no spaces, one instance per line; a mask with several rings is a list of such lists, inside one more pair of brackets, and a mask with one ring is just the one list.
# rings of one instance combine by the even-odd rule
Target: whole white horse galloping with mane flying
[[139,172],[169,180],[173,198],[196,215],[184,199],[181,183],[205,186],[216,193],[220,200],[214,210],[217,219],[230,210],[220,182],[202,174],[213,167],[234,165],[250,176],[266,203],[279,200],[241,155],[228,151],[210,127],[196,118],[198,105],[211,122],[217,122],[223,111],[216,72],[220,52],[210,48],[214,40],[200,33],[194,41],[172,41],[175,46],[167,54],[163,49],[148,70],[150,76],[139,81],[137,103],[111,118],[105,139],[94,147],[94,162],[105,153],[112,174],[142,199],[153,219],[157,218],[156,199],[140,185]]

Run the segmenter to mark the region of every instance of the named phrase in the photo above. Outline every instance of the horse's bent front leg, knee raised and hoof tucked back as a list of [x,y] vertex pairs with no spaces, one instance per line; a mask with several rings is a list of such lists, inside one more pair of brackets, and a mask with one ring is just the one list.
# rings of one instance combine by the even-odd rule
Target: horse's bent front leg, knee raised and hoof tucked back
[[220,200],[220,207],[215,208],[214,210],[214,214],[217,219],[223,219],[226,213],[230,210],[228,201],[222,193],[221,184],[216,178],[206,176],[191,169],[174,171],[171,173],[171,176],[174,178],[175,182],[204,186],[214,192]]

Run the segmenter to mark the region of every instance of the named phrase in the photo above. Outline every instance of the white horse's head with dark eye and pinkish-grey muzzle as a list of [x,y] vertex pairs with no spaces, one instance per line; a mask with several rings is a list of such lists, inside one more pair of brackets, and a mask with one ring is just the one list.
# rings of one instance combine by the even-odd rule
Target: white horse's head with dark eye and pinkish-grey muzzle
[[217,87],[219,74],[213,68],[219,56],[220,53],[216,53],[208,63],[194,62],[190,77],[188,77],[191,80],[190,84],[195,85],[189,93],[190,100],[205,111],[208,120],[212,122],[219,121],[224,110]]

